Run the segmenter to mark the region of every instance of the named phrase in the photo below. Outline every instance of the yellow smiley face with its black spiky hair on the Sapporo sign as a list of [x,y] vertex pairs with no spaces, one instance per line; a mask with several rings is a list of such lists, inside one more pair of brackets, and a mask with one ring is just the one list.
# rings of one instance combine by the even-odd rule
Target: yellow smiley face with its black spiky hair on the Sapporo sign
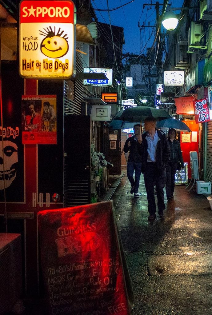
[[39,31],[41,32],[40,35],[45,36],[40,45],[41,52],[49,58],[63,57],[69,48],[67,34],[62,37],[64,31],[60,32],[59,28],[56,34],[55,27],[53,31],[51,26],[47,27],[47,29],[44,28],[44,31]]

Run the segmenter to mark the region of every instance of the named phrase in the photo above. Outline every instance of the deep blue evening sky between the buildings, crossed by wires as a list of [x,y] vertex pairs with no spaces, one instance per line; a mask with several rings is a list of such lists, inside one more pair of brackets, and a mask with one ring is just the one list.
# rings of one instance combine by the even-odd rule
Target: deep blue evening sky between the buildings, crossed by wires
[[[130,0],[108,0],[109,9],[117,8],[128,2],[130,2]],[[173,8],[181,7],[183,2],[183,0],[169,1],[169,3],[172,3],[171,7]],[[94,9],[107,9],[106,0],[92,0],[91,3]],[[152,46],[154,35],[151,36],[151,34],[155,31],[155,27],[145,27],[140,30],[138,27],[138,21],[140,21],[140,25],[142,25],[143,22],[145,22],[145,25],[148,25],[148,22],[150,22],[150,26],[154,26],[156,20],[156,10],[155,5],[152,5],[152,9],[150,5],[146,5],[143,9],[144,3],[146,4],[151,2],[150,0],[134,0],[132,3],[129,3],[117,10],[110,11],[110,17],[108,11],[95,11],[100,22],[109,24],[111,20],[112,25],[124,28],[124,54],[127,52],[134,54],[140,54],[140,52],[145,53],[145,47],[149,48]],[[152,4],[155,3],[156,1],[152,1]],[[159,1],[159,3],[162,4],[163,0]],[[161,10],[162,6],[159,6],[159,8]],[[180,11],[174,12],[180,13]]]

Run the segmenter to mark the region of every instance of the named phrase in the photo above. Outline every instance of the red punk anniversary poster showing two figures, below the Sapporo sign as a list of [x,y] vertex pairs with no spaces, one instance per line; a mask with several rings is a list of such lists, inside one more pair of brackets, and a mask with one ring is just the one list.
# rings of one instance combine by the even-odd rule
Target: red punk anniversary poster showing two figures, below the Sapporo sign
[[22,95],[22,143],[57,144],[56,95]]

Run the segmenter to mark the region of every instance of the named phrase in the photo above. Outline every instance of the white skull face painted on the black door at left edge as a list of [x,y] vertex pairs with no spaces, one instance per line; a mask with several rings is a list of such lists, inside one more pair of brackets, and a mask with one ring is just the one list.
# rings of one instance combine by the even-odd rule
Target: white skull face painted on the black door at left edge
[[[4,159],[4,168],[3,168]],[[0,190],[8,188],[16,177],[16,163],[18,163],[18,147],[9,140],[0,142]],[[3,177],[3,171],[4,177]]]

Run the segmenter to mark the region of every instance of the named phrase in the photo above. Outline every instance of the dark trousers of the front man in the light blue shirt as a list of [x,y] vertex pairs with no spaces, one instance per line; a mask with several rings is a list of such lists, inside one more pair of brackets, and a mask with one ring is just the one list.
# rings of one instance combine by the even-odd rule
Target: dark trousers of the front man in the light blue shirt
[[166,170],[158,170],[155,162],[147,162],[146,169],[144,171],[144,183],[146,187],[148,211],[150,215],[156,213],[154,185],[156,185],[158,213],[163,213],[163,210],[166,209],[163,192],[163,188],[166,184]]

